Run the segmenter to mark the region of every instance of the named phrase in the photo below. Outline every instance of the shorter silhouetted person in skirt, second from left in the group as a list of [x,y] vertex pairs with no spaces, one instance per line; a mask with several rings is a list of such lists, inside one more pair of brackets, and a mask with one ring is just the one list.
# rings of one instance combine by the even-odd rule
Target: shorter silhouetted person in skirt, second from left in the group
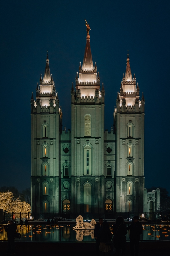
[[110,245],[107,243],[111,241],[112,234],[109,228],[109,223],[107,221],[103,222],[103,226],[98,232],[98,239],[100,241],[99,255],[108,255],[110,251]]

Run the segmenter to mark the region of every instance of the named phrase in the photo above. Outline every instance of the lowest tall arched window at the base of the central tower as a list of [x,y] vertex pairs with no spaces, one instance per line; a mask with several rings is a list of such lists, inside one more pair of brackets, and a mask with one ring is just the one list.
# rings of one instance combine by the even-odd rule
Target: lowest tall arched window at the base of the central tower
[[86,183],[84,185],[84,191],[83,191],[83,199],[84,199],[84,212],[91,212],[91,184]]

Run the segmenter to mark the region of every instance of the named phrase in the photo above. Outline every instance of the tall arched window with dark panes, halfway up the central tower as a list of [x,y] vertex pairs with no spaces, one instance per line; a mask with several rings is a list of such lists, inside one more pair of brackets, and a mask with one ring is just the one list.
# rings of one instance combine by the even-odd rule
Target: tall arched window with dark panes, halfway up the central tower
[[84,147],[84,175],[91,175],[92,152],[91,147],[86,145]]

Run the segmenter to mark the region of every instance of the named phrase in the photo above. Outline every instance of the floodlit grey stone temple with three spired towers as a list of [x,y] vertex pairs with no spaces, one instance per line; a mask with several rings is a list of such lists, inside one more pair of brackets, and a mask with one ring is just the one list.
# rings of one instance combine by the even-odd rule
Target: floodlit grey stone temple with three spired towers
[[71,88],[71,131],[62,130],[47,55],[36,100],[33,94],[31,99],[32,212],[143,212],[149,202],[157,209],[159,195],[148,197],[144,190],[145,99],[132,78],[129,56],[110,132],[104,131],[104,96],[87,35]]

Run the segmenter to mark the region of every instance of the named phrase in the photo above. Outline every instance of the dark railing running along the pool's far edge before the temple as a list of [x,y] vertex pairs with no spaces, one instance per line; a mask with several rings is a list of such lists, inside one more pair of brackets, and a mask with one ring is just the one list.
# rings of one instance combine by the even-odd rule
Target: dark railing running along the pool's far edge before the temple
[[133,216],[139,216],[146,218],[147,220],[170,220],[170,211],[166,213],[161,212],[113,212],[113,213],[94,213],[94,212],[68,212],[68,213],[61,213],[61,212],[19,212],[19,213],[6,213],[4,212],[4,220],[13,219],[17,223],[20,223],[21,220],[50,220],[57,218],[58,220],[75,220],[79,215],[82,215],[84,220],[91,220],[95,219],[98,220],[99,218],[103,218],[103,220],[116,220],[118,216],[122,216],[124,220],[133,219]]

